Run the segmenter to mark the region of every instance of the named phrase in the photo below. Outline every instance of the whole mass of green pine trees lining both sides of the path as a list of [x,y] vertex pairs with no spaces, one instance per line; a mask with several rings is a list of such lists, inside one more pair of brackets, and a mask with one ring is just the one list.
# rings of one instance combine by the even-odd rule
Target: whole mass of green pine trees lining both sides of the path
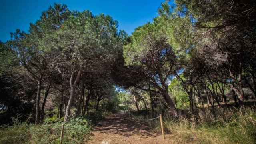
[[158,14],[128,35],[111,16],[54,4],[12,32],[0,43],[0,123],[134,110],[198,124],[207,110],[255,110],[256,1],[167,1]]

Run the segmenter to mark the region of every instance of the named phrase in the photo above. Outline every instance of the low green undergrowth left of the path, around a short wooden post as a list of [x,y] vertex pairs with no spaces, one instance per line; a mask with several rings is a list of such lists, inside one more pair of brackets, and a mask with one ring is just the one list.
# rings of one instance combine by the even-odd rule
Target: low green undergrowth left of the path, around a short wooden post
[[[1,144],[58,144],[62,122],[41,125],[18,123],[0,128]],[[63,144],[82,144],[89,138],[92,126],[84,118],[72,119],[65,124]]]

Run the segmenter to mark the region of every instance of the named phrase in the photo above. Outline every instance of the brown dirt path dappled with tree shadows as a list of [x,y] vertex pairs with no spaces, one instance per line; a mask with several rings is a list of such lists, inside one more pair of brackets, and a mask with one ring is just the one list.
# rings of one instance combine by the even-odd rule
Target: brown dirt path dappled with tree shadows
[[170,136],[151,132],[145,122],[114,114],[98,124],[87,144],[172,144]]

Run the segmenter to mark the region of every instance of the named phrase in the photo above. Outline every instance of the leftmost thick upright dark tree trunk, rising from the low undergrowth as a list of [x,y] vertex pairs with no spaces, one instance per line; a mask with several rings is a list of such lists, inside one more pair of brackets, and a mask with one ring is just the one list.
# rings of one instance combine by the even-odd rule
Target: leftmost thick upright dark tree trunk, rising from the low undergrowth
[[40,122],[40,93],[41,93],[41,85],[42,85],[42,75],[40,75],[38,84],[37,84],[37,93],[36,93],[36,121],[35,124],[38,125]]

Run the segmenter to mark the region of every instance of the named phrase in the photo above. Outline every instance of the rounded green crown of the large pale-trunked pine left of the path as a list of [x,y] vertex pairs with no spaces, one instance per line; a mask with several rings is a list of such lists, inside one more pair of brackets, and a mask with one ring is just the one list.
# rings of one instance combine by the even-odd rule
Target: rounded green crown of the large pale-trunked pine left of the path
[[45,36],[40,47],[58,50],[68,62],[91,65],[96,64],[96,57],[103,61],[114,58],[121,48],[117,33],[117,21],[108,15],[94,16],[88,10],[72,12],[56,32]]

